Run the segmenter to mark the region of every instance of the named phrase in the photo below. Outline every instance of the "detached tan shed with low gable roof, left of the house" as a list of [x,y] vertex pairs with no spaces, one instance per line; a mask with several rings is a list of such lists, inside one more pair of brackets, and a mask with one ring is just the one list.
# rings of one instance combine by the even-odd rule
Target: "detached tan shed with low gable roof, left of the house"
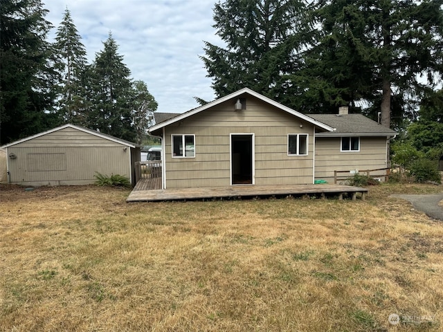
[[8,182],[19,185],[87,185],[96,172],[127,176],[135,184],[140,147],[73,124],[2,147]]

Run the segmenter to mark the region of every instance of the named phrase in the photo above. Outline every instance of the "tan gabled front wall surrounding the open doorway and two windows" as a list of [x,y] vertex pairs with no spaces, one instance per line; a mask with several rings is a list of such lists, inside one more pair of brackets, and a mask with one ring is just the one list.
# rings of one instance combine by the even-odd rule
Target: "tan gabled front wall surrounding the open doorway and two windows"
[[[254,134],[255,184],[313,182],[314,127],[261,100],[248,96],[246,109],[233,102],[190,116],[164,129],[166,188],[231,184],[230,134]],[[300,128],[302,123],[302,128]],[[289,133],[308,133],[308,155],[288,156]],[[171,135],[195,135],[195,158],[173,158]]]

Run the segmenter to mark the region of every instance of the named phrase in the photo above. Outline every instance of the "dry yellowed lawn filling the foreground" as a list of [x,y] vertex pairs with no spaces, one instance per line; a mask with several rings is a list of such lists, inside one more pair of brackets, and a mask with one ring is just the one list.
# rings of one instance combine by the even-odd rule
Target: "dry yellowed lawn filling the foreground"
[[443,331],[443,222],[394,192],[442,187],[127,204],[1,185],[0,331]]

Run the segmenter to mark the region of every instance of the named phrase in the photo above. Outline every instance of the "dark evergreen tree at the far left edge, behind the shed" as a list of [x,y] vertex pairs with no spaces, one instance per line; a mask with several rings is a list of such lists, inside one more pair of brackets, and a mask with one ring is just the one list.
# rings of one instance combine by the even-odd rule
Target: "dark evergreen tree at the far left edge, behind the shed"
[[46,13],[39,0],[0,0],[0,145],[56,124]]

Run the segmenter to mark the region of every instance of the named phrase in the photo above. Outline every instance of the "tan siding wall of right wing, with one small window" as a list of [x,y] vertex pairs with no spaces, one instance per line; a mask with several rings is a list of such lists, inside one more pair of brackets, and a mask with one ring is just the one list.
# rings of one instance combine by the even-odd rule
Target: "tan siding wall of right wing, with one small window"
[[[386,136],[360,137],[360,151],[340,151],[340,137],[316,138],[315,178],[334,183],[334,171],[364,171],[379,169],[386,165]],[[385,172],[371,172],[372,177]],[[346,176],[341,173],[339,176]],[[349,173],[349,176],[352,176]]]

